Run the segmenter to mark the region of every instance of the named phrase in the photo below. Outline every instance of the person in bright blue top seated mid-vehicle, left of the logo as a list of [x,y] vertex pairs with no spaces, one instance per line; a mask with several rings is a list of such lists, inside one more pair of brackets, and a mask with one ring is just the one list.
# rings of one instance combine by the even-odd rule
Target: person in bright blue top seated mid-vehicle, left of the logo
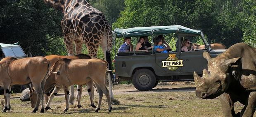
[[163,42],[161,38],[155,37],[154,39],[154,52],[156,53],[168,53],[168,51],[166,49],[168,48],[164,48],[164,46],[162,46]]

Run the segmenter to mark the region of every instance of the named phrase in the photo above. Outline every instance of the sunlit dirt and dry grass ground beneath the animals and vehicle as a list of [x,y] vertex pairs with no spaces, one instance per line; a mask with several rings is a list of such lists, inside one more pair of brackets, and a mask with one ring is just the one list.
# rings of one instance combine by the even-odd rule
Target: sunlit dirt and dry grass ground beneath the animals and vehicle
[[[45,113],[31,113],[30,101],[21,102],[20,94],[12,94],[11,111],[0,113],[0,117],[224,117],[218,97],[216,99],[198,99],[195,96],[195,85],[192,82],[171,82],[159,83],[151,91],[139,92],[133,85],[114,85],[114,102],[112,112],[108,113],[107,101],[103,96],[100,111],[95,113],[95,108],[90,107],[88,92],[83,87],[81,104],[82,108],[77,108],[77,104],[65,109],[65,98],[63,91],[60,91],[53,99],[50,107]],[[76,92],[75,92],[76,93]],[[0,96],[1,107],[3,108],[4,97]],[[94,103],[97,106],[98,96],[95,91]],[[235,111],[240,112],[244,105],[235,103]],[[256,113],[254,113],[256,117]]]

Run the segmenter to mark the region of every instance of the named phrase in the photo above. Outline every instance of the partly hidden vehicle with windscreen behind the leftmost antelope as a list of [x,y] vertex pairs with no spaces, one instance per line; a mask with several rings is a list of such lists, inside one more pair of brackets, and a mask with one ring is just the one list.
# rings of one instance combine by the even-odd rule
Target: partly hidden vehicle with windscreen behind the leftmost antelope
[[[0,60],[7,56],[17,57],[19,59],[27,57],[27,55],[22,50],[21,46],[19,46],[19,43],[15,43],[15,44],[0,43]],[[25,85],[12,86],[12,90],[14,92],[22,92],[24,89],[26,89]],[[2,92],[3,88],[0,87],[0,90]]]

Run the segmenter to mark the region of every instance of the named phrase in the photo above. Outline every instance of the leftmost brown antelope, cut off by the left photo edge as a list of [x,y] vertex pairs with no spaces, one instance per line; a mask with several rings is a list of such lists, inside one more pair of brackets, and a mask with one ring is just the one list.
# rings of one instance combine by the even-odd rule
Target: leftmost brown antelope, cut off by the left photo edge
[[[4,88],[5,106],[3,112],[10,110],[11,86],[26,85],[32,83],[35,87],[33,92],[38,95],[33,98],[36,102],[32,104],[36,112],[39,107],[40,100],[42,102],[41,111],[44,112],[43,105],[43,89],[47,74],[50,71],[50,62],[44,57],[28,57],[17,59],[15,57],[5,57],[0,61],[0,86]],[[30,90],[32,92],[32,90]],[[35,101],[36,100],[36,101]]]

